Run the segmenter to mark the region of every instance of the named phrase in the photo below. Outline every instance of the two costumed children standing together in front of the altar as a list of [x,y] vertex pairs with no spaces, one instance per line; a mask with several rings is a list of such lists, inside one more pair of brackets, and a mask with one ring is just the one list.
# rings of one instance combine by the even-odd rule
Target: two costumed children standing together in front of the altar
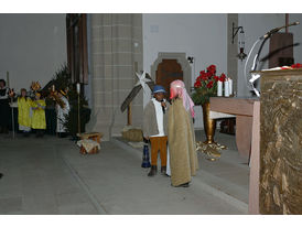
[[157,174],[160,151],[161,173],[171,176],[172,186],[187,187],[198,169],[193,127],[194,104],[182,80],[170,85],[171,104],[164,99],[165,94],[162,86],[155,85],[153,98],[143,110],[143,137],[151,143],[148,176]]

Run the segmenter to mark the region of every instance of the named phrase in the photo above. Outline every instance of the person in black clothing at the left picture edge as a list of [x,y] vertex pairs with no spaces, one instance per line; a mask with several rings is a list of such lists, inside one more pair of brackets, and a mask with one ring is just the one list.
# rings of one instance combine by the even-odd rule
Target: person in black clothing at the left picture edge
[[0,133],[9,133],[9,88],[6,86],[6,80],[0,79]]

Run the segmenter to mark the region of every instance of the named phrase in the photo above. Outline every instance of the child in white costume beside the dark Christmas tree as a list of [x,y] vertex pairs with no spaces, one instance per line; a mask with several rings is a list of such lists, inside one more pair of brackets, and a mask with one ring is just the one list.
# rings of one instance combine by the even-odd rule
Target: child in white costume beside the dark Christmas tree
[[56,104],[56,132],[58,137],[64,138],[66,137],[66,128],[64,123],[66,122],[66,115],[68,115],[71,108],[68,99],[65,97],[66,93],[60,90],[57,97],[60,98],[60,102]]

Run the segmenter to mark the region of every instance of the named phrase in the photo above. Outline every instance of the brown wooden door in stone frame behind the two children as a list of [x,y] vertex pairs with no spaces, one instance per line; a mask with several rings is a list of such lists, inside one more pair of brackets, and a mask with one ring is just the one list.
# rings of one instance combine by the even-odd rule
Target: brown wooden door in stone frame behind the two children
[[166,90],[166,99],[170,97],[170,84],[173,80],[183,80],[182,66],[177,60],[162,60],[157,69],[157,85],[161,85]]

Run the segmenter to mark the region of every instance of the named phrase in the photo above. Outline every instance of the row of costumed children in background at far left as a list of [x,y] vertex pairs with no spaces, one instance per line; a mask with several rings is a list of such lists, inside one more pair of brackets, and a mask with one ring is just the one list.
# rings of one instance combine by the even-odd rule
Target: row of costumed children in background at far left
[[[6,80],[0,79],[0,133],[9,133],[10,122],[10,96],[9,88],[6,87]],[[60,137],[66,137],[66,128],[64,127],[65,115],[69,111],[69,104],[66,94],[61,90],[57,93],[58,99],[62,105],[56,105],[57,126],[56,131]],[[28,96],[25,88],[22,88],[20,96],[17,98],[18,102],[18,123],[19,130],[22,131],[24,137],[29,137],[32,129],[35,130],[36,137],[43,137],[46,129],[45,108],[46,102],[41,96],[41,93],[35,91],[34,98]]]

